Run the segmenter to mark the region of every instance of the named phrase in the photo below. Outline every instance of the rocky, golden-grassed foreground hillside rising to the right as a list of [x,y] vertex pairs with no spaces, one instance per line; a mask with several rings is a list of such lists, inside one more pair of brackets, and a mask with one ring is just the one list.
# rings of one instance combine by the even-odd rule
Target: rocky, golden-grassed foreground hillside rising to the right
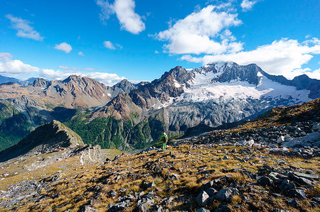
[[176,140],[166,152],[148,148],[7,184],[0,206],[18,211],[318,211],[318,104],[316,99],[274,108],[264,119],[245,123],[250,124],[246,129]]

